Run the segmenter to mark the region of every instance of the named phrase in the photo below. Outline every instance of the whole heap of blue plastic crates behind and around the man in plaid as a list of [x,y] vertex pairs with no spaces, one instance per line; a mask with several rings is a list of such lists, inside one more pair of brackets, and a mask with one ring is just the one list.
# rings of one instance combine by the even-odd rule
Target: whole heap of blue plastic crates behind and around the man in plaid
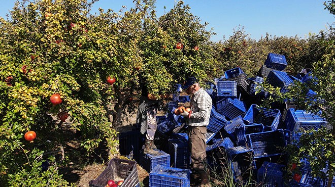
[[[288,75],[283,70],[287,66],[285,56],[269,54],[257,72],[248,78],[240,67],[225,72],[224,76],[215,78],[209,84],[207,92],[213,99],[210,122],[207,126],[207,162],[213,170],[222,167],[231,168],[235,181],[244,180],[252,171],[257,174],[256,181],[263,186],[284,186],[283,167],[287,155],[282,148],[295,144],[301,129],[319,129],[327,122],[318,115],[294,107],[266,109],[259,107],[259,101],[269,94],[256,90],[264,82],[279,87],[286,92],[294,81],[311,78],[308,72],[299,76]],[[309,90],[306,94],[313,99],[316,93]],[[133,155],[148,172],[149,186],[189,186],[190,153],[188,148],[187,125],[182,116],[173,111],[180,103],[189,102],[187,96],[175,95],[168,103],[168,112],[157,116],[158,128],[155,145],[158,155],[141,154],[141,146],[135,141],[134,132],[128,136],[121,133],[120,152],[126,156]],[[129,146],[125,146],[130,145]],[[122,149],[122,150],[121,150]],[[222,162],[225,160],[225,162]],[[300,167],[303,178],[291,182],[291,186],[307,186],[322,180],[311,178],[310,168]]]

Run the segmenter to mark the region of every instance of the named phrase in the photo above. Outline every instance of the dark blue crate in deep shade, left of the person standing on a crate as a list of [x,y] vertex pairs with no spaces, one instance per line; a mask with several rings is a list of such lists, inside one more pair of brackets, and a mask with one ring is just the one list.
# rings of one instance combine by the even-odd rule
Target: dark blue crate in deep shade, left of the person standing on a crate
[[121,132],[119,136],[120,155],[137,160],[140,156],[142,134],[139,130]]

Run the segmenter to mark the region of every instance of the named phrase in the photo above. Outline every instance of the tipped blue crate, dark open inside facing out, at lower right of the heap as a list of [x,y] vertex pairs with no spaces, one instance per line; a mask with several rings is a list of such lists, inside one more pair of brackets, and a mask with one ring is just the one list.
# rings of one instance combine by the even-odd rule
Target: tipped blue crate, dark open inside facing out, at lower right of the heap
[[283,129],[252,133],[246,136],[247,144],[254,150],[255,158],[281,155],[283,154],[281,148],[286,147]]

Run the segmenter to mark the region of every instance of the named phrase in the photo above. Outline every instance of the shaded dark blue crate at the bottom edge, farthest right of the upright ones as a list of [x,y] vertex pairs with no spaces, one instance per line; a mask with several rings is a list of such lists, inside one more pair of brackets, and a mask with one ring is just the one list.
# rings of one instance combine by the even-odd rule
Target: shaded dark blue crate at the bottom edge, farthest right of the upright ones
[[283,168],[277,163],[264,162],[257,171],[257,183],[260,186],[284,187]]

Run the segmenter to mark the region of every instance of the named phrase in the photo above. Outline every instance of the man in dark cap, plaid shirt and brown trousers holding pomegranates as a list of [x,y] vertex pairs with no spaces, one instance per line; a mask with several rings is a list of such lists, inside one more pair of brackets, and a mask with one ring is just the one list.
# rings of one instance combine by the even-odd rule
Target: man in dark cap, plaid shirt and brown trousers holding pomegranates
[[197,186],[211,186],[208,170],[206,169],[206,133],[211,116],[212,98],[204,88],[199,86],[194,77],[190,77],[182,88],[186,89],[188,95],[191,95],[191,111],[188,113],[183,110],[180,115],[187,119],[192,167],[199,173],[202,180]]

